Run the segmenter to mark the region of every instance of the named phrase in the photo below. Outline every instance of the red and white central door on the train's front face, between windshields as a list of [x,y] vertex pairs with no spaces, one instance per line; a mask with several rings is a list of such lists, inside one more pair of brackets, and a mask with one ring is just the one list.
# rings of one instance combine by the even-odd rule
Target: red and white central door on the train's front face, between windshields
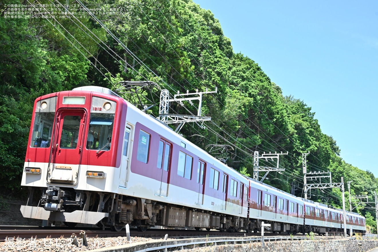
[[85,110],[58,110],[47,181],[76,184],[84,143]]

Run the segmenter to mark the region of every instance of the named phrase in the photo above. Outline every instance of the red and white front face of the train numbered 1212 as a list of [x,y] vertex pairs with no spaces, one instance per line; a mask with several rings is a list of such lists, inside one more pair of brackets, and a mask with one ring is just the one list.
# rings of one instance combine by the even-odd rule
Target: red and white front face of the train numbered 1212
[[116,190],[121,163],[112,139],[123,140],[126,111],[123,99],[99,87],[36,99],[21,184],[28,189],[24,217],[73,226],[109,216],[103,209],[113,201],[105,192]]

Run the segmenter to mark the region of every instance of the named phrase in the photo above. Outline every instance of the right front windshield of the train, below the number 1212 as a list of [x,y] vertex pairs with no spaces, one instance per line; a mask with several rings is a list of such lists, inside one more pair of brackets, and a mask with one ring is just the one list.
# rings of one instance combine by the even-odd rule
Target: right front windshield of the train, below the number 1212
[[110,150],[112,147],[114,114],[92,113],[87,135],[88,150]]

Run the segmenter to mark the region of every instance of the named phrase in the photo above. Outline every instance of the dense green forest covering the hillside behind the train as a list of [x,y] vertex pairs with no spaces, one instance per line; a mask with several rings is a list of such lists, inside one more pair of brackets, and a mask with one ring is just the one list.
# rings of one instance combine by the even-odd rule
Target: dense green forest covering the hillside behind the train
[[[27,7],[31,3],[36,8]],[[50,0],[0,3],[3,192],[20,187],[34,99],[84,85],[114,90],[122,80],[150,80],[171,93],[218,88],[203,100],[202,115],[212,121],[206,128],[185,124],[180,133],[201,148],[232,146],[230,167],[252,176],[254,151],[288,153],[279,162],[285,171],[269,173],[264,182],[303,197],[302,153],[310,152],[308,172],[330,171],[335,182],[344,177],[352,181],[351,195],[374,201],[374,175],[342,160],[336,139],[322,133],[304,100],[283,96],[279,83],[271,82],[258,63],[234,53],[211,11],[192,0],[83,1],[96,19],[79,3],[70,0],[68,8],[62,0],[60,5]],[[160,91],[152,91],[158,100]],[[195,113],[196,105],[173,105],[176,113]],[[147,113],[158,116],[157,106]],[[342,205],[339,189],[312,190],[311,199]],[[359,204],[353,211],[375,229],[372,206]]]

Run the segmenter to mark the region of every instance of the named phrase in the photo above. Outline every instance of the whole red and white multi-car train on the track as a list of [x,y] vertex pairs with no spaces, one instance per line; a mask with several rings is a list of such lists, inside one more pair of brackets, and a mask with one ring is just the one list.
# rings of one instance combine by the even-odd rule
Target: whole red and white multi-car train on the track
[[[240,175],[102,87],[36,99],[22,186],[24,217],[68,226],[250,232],[264,221],[273,232],[344,229],[341,210]],[[365,232],[365,218],[347,212],[347,229]]]

